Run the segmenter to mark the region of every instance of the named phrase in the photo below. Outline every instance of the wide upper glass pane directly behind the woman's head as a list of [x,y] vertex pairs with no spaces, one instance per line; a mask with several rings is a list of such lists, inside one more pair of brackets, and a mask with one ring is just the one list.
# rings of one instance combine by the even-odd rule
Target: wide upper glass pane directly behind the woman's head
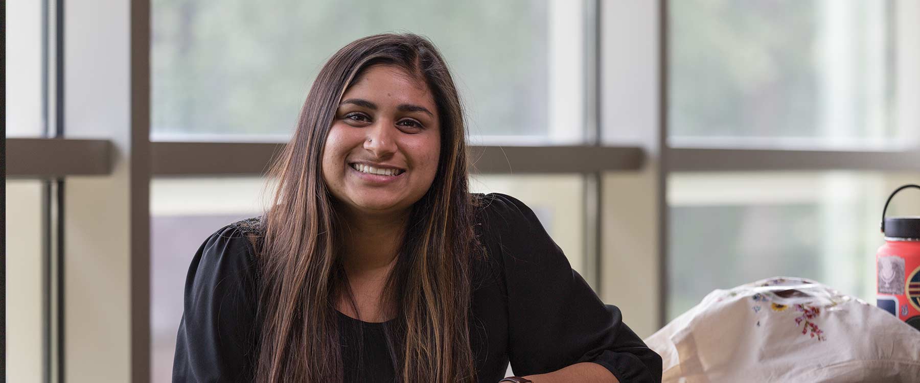
[[579,141],[582,7],[563,0],[154,0],[152,135],[284,140],[330,55],[353,39],[411,31],[443,51],[471,133],[488,136],[481,140]]

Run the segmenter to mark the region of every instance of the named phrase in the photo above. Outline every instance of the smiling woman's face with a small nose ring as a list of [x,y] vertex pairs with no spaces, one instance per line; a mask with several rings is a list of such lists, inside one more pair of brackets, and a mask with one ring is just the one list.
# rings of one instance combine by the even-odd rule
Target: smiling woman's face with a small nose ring
[[396,66],[371,67],[341,98],[323,152],[323,180],[354,212],[402,212],[434,180],[440,130],[426,84]]

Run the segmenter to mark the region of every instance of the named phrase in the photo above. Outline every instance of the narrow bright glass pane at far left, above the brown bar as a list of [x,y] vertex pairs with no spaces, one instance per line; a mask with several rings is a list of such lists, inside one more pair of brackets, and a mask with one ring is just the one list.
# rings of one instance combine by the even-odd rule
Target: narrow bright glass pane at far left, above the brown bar
[[12,1],[6,6],[6,137],[45,135],[41,5]]

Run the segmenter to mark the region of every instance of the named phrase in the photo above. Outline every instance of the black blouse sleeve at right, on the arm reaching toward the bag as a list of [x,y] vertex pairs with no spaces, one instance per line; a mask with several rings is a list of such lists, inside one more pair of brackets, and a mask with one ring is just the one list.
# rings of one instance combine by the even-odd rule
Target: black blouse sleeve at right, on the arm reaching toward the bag
[[620,382],[661,382],[661,356],[604,303],[520,200],[485,197],[486,232],[498,242],[508,294],[509,358],[518,376],[581,362]]

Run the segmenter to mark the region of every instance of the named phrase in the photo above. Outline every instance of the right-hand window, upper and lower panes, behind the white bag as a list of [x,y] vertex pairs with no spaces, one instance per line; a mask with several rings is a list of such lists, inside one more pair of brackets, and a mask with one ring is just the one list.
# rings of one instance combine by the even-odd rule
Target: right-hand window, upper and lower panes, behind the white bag
[[666,319],[770,276],[874,301],[885,199],[920,180],[916,5],[668,5]]

